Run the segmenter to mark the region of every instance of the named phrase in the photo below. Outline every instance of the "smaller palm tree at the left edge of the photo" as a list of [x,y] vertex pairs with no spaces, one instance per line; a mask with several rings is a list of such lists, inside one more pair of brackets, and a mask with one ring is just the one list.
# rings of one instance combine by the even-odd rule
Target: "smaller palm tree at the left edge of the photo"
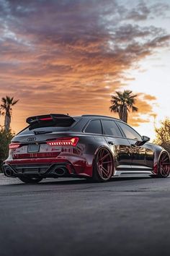
[[2,114],[5,115],[4,129],[8,132],[12,119],[12,106],[14,106],[19,100],[14,101],[14,97],[10,98],[9,96],[6,96],[6,98],[1,98],[1,101],[1,109],[4,111]]

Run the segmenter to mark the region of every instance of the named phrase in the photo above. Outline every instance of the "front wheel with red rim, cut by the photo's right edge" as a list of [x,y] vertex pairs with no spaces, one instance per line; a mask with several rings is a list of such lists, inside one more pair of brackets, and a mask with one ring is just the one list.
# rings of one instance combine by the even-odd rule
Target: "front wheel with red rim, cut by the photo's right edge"
[[169,153],[164,151],[158,161],[158,178],[167,178],[170,174]]

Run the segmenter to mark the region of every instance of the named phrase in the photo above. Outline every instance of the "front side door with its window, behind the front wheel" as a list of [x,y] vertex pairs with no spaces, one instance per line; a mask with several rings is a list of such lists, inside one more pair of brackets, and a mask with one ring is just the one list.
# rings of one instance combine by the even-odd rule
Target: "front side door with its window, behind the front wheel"
[[[142,141],[141,136],[128,124],[121,121],[117,121],[117,124],[122,129],[125,137],[127,137],[130,142],[130,148],[132,152],[132,168],[134,170],[148,170],[153,167],[153,154],[151,146],[148,143],[144,145],[137,146],[135,143],[137,141]],[[148,161],[149,155],[149,161]]]

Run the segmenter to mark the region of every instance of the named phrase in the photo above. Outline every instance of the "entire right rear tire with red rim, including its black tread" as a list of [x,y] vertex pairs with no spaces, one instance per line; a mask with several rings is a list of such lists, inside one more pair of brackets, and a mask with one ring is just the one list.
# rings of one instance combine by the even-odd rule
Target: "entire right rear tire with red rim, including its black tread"
[[93,182],[108,182],[113,174],[112,154],[107,148],[100,148],[94,158]]

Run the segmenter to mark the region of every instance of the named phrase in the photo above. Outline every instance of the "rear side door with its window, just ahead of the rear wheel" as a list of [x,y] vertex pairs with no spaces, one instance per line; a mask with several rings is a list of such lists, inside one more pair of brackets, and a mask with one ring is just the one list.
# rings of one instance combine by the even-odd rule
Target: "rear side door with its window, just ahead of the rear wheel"
[[104,138],[115,158],[115,168],[118,170],[131,169],[132,155],[130,142],[122,136],[120,128],[112,119],[102,119]]

